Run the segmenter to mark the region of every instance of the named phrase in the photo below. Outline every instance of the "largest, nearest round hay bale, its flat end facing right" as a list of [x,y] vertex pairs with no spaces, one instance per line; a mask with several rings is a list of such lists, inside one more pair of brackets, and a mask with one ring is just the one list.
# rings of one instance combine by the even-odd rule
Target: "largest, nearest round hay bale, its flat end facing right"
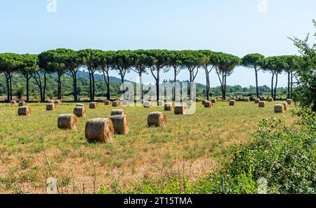
[[110,143],[114,138],[114,127],[110,118],[94,118],[86,123],[86,141]]

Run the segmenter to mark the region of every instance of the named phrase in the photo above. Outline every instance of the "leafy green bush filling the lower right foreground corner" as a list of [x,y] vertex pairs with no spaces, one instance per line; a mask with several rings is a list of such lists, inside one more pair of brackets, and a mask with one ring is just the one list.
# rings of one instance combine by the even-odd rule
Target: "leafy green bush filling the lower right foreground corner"
[[232,161],[196,186],[197,193],[257,193],[257,180],[268,193],[316,193],[316,113],[298,109],[296,125],[262,120],[250,144],[235,147]]

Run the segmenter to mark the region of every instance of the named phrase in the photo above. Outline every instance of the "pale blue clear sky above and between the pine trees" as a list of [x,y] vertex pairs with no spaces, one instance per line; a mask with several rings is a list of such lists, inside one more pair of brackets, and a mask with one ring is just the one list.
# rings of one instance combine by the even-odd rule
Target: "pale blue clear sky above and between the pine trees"
[[[55,0],[55,12],[48,12],[48,1],[0,0],[0,53],[157,48],[289,55],[297,49],[288,36],[315,32],[315,0]],[[187,77],[187,71],[180,73],[181,80]],[[145,82],[153,81],[145,76]],[[197,82],[205,83],[204,71]],[[254,72],[244,67],[228,78],[228,85],[254,84]],[[260,74],[259,85],[269,84],[270,74]],[[216,85],[213,73],[211,86]],[[285,75],[279,85],[287,85]]]

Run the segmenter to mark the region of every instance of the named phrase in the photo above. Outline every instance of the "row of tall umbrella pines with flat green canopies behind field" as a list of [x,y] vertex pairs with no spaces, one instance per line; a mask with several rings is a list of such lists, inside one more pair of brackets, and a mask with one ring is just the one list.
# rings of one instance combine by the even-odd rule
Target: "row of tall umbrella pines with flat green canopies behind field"
[[[4,74],[6,80],[7,100],[11,101],[13,74],[25,77],[26,97],[29,101],[29,84],[33,78],[37,87],[41,102],[45,102],[47,76],[57,74],[58,89],[57,97],[62,97],[62,76],[72,77],[72,88],[74,102],[78,101],[78,77],[79,69],[86,69],[89,74],[89,97],[91,101],[96,96],[96,72],[103,75],[106,97],[110,99],[110,76],[111,70],[117,71],[123,85],[126,73],[134,71],[140,77],[140,91],[143,99],[142,75],[152,74],[156,81],[156,91],[159,95],[160,74],[168,71],[173,72],[173,81],[176,82],[180,71],[187,71],[188,81],[195,82],[199,71],[204,71],[206,78],[206,99],[210,97],[210,73],[215,71],[220,81],[220,90],[223,99],[226,98],[228,88],[227,77],[230,76],[235,67],[244,66],[253,69],[256,81],[256,96],[259,97],[258,71],[267,71],[271,76],[271,97],[276,97],[278,76],[287,73],[287,97],[292,97],[294,77],[302,68],[303,59],[296,55],[283,55],[265,57],[261,54],[248,54],[242,58],[228,53],[213,52],[211,50],[71,50],[58,48],[47,50],[39,55],[19,55],[15,53],[0,53],[0,73]],[[190,86],[189,86],[190,96]],[[159,100],[159,97],[157,97]]]

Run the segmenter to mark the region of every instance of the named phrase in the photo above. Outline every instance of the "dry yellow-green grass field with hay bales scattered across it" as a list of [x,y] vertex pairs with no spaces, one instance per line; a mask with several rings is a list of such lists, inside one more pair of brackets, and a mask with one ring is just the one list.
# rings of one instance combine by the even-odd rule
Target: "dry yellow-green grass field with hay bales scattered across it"
[[229,146],[249,141],[259,120],[285,116],[293,122],[289,111],[274,113],[277,103],[258,108],[254,102],[238,102],[232,108],[217,102],[213,109],[198,103],[193,115],[164,111],[164,128],[147,127],[148,113],[163,111],[163,106],[124,107],[130,132],[116,134],[111,144],[88,144],[84,128],[88,119],[109,118],[115,107],[87,109],[77,130],[60,130],[58,115],[72,113],[75,104],[64,102],[56,111],[46,111],[46,104],[28,104],[32,115],[27,117],[18,116],[17,106],[0,104],[0,118],[6,120],[0,125],[0,190],[45,193],[50,176],[57,179],[59,193],[93,193],[101,185],[110,193],[131,193],[142,181],[158,187],[179,175],[194,182],[216,172]]

